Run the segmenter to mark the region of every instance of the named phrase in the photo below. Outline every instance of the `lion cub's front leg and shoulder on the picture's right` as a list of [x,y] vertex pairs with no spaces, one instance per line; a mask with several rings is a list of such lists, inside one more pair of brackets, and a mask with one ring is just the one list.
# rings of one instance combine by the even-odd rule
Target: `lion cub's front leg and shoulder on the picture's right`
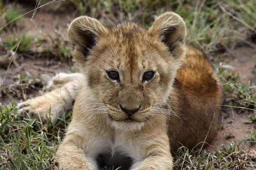
[[131,170],[172,170],[165,122],[164,118],[152,118],[142,130],[117,136],[117,148],[133,160]]

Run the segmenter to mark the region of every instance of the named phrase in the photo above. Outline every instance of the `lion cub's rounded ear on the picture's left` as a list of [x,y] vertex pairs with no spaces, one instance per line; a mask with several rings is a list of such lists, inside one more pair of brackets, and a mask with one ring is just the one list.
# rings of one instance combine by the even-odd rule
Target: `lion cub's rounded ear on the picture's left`
[[74,61],[84,62],[98,38],[106,31],[106,28],[94,18],[81,16],[73,20],[67,29],[67,41],[70,43]]

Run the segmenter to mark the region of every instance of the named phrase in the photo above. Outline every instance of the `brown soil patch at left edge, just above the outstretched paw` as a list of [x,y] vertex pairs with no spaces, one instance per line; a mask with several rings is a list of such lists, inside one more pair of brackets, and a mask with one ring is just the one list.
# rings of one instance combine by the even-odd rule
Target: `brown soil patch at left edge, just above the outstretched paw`
[[[11,65],[8,71],[0,68],[0,79],[3,81],[0,88],[0,103],[8,104],[9,98],[20,102],[20,99],[36,96],[50,77],[58,72],[66,72],[68,69],[69,67],[64,63],[52,59],[31,58],[19,59],[16,65]],[[21,75],[25,82],[20,81]]]

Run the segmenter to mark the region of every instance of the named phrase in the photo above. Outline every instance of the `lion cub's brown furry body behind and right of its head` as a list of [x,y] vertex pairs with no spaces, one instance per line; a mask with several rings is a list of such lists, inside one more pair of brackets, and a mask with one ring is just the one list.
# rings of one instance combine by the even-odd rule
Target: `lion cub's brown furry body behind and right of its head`
[[[196,48],[187,46],[183,67],[178,69],[171,95],[178,118],[169,121],[170,144],[194,147],[215,138],[222,101],[221,83],[208,59]],[[176,147],[177,148],[177,147]]]

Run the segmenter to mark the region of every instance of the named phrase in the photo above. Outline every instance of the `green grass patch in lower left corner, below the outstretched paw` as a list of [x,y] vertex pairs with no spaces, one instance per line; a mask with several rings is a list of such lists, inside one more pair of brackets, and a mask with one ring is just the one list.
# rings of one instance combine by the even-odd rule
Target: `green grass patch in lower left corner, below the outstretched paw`
[[0,170],[52,169],[56,145],[64,133],[64,121],[60,119],[55,126],[48,122],[46,127],[29,116],[17,120],[12,102],[1,107],[0,112]]

